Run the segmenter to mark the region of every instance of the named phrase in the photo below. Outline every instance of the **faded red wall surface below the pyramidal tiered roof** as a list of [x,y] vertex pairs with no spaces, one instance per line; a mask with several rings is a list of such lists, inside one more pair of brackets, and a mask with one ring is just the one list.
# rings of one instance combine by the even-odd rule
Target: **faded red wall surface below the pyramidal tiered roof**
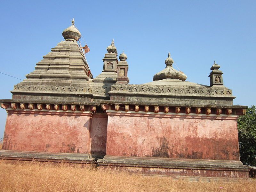
[[3,149],[88,153],[90,113],[9,112]]

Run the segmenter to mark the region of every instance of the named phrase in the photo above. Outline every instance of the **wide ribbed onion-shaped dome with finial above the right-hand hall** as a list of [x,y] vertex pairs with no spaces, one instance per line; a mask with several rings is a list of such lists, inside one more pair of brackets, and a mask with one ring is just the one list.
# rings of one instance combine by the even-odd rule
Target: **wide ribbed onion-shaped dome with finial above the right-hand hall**
[[183,72],[177,71],[172,67],[173,60],[170,56],[170,52],[168,54],[168,58],[165,60],[165,64],[165,69],[154,75],[153,81],[159,81],[162,79],[180,79],[182,81],[186,81],[187,76]]

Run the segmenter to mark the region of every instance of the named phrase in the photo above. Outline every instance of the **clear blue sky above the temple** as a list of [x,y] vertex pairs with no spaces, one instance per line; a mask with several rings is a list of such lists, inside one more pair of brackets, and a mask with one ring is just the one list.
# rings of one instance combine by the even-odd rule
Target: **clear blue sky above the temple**
[[[0,72],[24,79],[63,40],[74,17],[91,50],[86,57],[94,77],[114,38],[118,54],[127,54],[130,84],[151,82],[170,51],[187,81],[199,84],[209,85],[215,60],[234,104],[252,106],[255,10],[256,1],[1,1]],[[0,98],[10,99],[20,80],[0,74],[0,81]],[[5,121],[1,108],[0,138]]]

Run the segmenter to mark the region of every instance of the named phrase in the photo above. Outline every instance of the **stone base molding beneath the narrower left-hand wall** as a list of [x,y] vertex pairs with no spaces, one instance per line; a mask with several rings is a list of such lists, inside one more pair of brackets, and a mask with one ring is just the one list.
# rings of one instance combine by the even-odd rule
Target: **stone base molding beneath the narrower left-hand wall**
[[0,159],[20,161],[66,162],[79,164],[95,164],[96,158],[90,154],[49,153],[31,151],[0,150]]

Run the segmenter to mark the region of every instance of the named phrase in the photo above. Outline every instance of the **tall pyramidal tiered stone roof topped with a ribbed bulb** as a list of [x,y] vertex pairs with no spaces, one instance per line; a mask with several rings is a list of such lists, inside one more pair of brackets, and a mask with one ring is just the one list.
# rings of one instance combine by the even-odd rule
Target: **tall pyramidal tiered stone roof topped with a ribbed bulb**
[[91,92],[88,81],[93,77],[92,73],[87,75],[89,66],[77,44],[81,34],[74,26],[74,22],[73,19],[71,26],[63,31],[62,36],[65,40],[36,63],[35,70],[26,75],[27,79],[14,86],[13,98],[21,92]]

